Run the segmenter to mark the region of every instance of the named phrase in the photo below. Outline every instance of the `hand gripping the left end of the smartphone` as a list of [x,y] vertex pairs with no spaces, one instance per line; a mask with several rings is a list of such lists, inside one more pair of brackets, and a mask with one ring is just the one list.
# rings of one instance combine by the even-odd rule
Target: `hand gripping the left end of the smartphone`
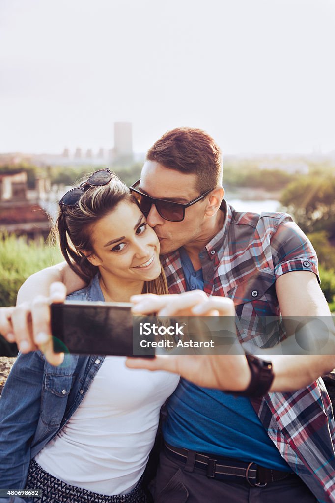
[[22,353],[39,349],[49,363],[60,365],[64,355],[53,352],[49,305],[51,302],[64,302],[65,297],[65,286],[53,283],[49,297],[40,295],[32,302],[0,308],[0,333],[8,342],[15,342]]

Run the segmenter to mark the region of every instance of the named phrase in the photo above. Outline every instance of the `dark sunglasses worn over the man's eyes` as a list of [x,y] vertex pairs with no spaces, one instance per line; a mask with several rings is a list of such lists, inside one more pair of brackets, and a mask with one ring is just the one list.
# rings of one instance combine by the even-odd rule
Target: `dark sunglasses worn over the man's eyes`
[[181,222],[185,218],[185,209],[193,204],[202,201],[207,194],[209,194],[213,189],[208,190],[201,196],[193,199],[189,203],[174,203],[172,201],[167,201],[166,199],[154,199],[143,192],[139,191],[137,187],[139,186],[141,179],[137,180],[133,185],[129,187],[132,194],[135,196],[136,201],[140,207],[142,213],[148,216],[151,206],[154,204],[157,212],[164,220],[169,220],[169,222]]

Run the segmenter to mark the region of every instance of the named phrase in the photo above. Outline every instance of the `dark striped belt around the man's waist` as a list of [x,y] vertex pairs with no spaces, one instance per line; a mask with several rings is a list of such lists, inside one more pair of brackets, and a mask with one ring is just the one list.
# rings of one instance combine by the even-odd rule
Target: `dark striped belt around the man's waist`
[[166,444],[166,442],[165,449],[169,455],[184,463],[190,456],[194,457],[194,466],[206,470],[207,477],[233,482],[247,482],[253,487],[265,487],[270,482],[277,482],[290,475],[295,475],[294,472],[264,468],[254,462],[246,463],[238,459],[224,457],[216,459],[200,452],[179,449]]

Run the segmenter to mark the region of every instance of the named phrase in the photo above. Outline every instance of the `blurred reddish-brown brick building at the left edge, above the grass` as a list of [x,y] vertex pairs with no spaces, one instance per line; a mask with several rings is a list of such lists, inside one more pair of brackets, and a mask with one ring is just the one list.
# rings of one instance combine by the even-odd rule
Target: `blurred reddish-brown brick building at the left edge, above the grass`
[[39,204],[42,182],[37,181],[37,197],[31,200],[26,172],[0,174],[0,231],[29,238],[48,236],[50,220]]

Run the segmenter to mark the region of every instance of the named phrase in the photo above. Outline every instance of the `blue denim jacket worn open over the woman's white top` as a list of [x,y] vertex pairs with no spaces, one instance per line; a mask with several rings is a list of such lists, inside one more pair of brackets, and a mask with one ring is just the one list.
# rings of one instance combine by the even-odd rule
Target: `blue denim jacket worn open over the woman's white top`
[[[67,299],[104,301],[98,276]],[[0,398],[0,488],[25,487],[30,460],[68,422],[103,361],[102,355],[67,354],[53,367],[40,351],[19,354]]]

